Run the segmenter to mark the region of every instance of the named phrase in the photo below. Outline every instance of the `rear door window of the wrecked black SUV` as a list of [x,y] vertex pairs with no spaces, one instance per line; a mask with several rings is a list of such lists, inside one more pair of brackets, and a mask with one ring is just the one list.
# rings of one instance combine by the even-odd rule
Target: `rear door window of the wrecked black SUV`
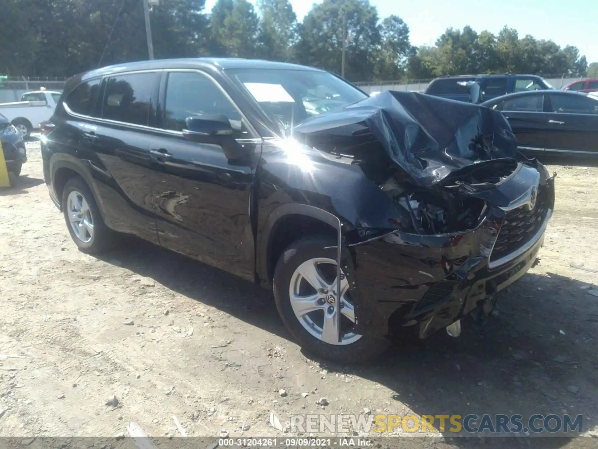
[[148,126],[154,114],[152,96],[155,72],[109,77],[102,104],[102,118],[133,125]]

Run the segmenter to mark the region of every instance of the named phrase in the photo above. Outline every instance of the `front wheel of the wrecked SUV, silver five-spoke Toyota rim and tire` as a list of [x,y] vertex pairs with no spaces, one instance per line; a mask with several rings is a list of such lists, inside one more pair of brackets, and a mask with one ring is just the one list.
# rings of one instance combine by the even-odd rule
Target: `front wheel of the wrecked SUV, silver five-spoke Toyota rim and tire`
[[334,362],[363,363],[385,351],[388,340],[352,332],[355,311],[342,272],[337,307],[335,246],[333,239],[316,237],[286,248],[274,270],[274,301],[289,332],[306,350]]

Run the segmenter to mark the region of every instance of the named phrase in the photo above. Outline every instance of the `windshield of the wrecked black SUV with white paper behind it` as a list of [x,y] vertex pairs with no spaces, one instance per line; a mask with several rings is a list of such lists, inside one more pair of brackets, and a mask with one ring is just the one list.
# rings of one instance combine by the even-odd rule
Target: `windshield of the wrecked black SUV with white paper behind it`
[[328,72],[285,69],[227,70],[281,131],[368,96]]

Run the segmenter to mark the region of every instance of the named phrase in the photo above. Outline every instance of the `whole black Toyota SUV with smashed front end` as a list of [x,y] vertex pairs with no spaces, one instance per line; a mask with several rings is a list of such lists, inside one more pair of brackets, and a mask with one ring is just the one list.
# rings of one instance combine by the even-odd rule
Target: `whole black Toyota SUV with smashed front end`
[[272,288],[297,341],[342,362],[491,311],[554,205],[498,111],[286,63],[97,69],[51,122],[45,180],[82,251],[132,233]]

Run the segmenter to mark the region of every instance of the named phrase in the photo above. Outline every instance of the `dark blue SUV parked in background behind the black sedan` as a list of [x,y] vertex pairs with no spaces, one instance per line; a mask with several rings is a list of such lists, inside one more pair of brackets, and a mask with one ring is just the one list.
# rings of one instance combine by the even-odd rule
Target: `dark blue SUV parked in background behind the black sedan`
[[469,102],[471,100],[468,81],[477,81],[480,84],[482,101],[507,93],[554,89],[548,81],[538,75],[458,75],[436,78],[428,85],[425,93]]

